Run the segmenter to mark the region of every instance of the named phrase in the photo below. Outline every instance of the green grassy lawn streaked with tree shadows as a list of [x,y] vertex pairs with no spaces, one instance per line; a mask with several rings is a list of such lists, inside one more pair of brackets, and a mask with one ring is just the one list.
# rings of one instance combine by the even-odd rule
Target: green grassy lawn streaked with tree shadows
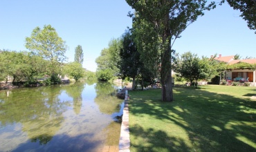
[[256,151],[256,87],[129,91],[131,151]]

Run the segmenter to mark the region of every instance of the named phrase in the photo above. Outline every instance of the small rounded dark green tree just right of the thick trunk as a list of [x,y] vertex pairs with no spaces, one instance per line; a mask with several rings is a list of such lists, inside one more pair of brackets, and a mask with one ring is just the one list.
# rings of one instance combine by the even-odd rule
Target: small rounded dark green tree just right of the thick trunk
[[191,52],[183,53],[181,57],[176,57],[175,72],[181,74],[181,77],[190,80],[190,86],[192,86],[193,80],[197,81],[197,79],[201,78],[199,60],[199,57]]

